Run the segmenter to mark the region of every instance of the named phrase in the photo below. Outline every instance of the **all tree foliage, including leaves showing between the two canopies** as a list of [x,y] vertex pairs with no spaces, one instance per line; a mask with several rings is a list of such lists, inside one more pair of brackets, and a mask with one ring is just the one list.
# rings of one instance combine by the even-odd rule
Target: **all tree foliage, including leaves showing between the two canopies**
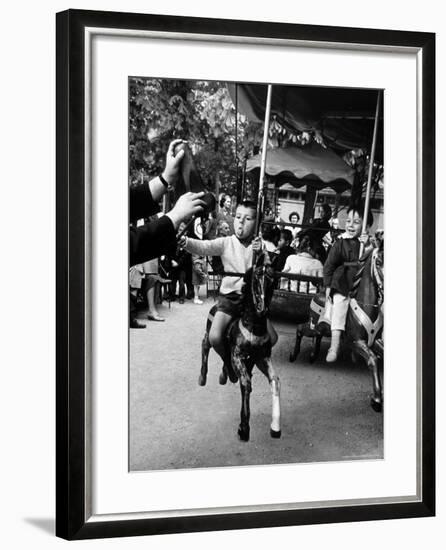
[[[129,82],[129,179],[138,183],[159,174],[172,139],[188,140],[200,175],[212,191],[236,195],[247,158],[261,149],[263,124],[240,113],[223,82],[132,78]],[[316,133],[292,133],[273,116],[269,146],[325,146]],[[361,156],[346,156],[360,180]],[[348,158],[347,158],[348,157]],[[353,163],[353,164],[352,164]],[[365,164],[365,163],[363,163]],[[376,180],[382,180],[376,172]],[[246,178],[244,195],[256,196],[257,182]]]

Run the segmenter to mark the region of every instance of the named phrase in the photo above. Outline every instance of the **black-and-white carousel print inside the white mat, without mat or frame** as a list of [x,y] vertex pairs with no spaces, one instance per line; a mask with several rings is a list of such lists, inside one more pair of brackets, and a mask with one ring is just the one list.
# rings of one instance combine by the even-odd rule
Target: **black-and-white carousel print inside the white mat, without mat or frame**
[[384,95],[129,77],[130,471],[384,458]]

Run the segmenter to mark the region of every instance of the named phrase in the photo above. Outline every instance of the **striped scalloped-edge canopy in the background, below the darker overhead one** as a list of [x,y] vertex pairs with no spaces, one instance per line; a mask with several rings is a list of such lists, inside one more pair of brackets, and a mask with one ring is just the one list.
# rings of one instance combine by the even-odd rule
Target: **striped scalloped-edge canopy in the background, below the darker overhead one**
[[[261,162],[261,154],[248,159],[246,171],[260,170]],[[274,177],[277,185],[331,187],[338,193],[351,188],[355,174],[354,169],[333,151],[314,142],[302,148],[268,149],[265,171]]]

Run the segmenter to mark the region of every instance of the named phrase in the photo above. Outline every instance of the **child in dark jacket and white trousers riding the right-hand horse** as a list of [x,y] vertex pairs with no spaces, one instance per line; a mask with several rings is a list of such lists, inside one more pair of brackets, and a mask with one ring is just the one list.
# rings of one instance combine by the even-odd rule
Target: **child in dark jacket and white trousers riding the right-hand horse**
[[[327,353],[327,363],[333,363],[338,358],[341,335],[345,330],[345,321],[350,299],[349,291],[357,271],[355,265],[345,265],[346,262],[359,260],[361,242],[366,245],[369,235],[361,235],[364,206],[350,207],[347,211],[345,233],[338,239],[328,253],[324,265],[324,286],[327,300],[332,300],[331,313],[331,345]],[[367,216],[367,231],[373,224],[373,214],[369,210]]]

